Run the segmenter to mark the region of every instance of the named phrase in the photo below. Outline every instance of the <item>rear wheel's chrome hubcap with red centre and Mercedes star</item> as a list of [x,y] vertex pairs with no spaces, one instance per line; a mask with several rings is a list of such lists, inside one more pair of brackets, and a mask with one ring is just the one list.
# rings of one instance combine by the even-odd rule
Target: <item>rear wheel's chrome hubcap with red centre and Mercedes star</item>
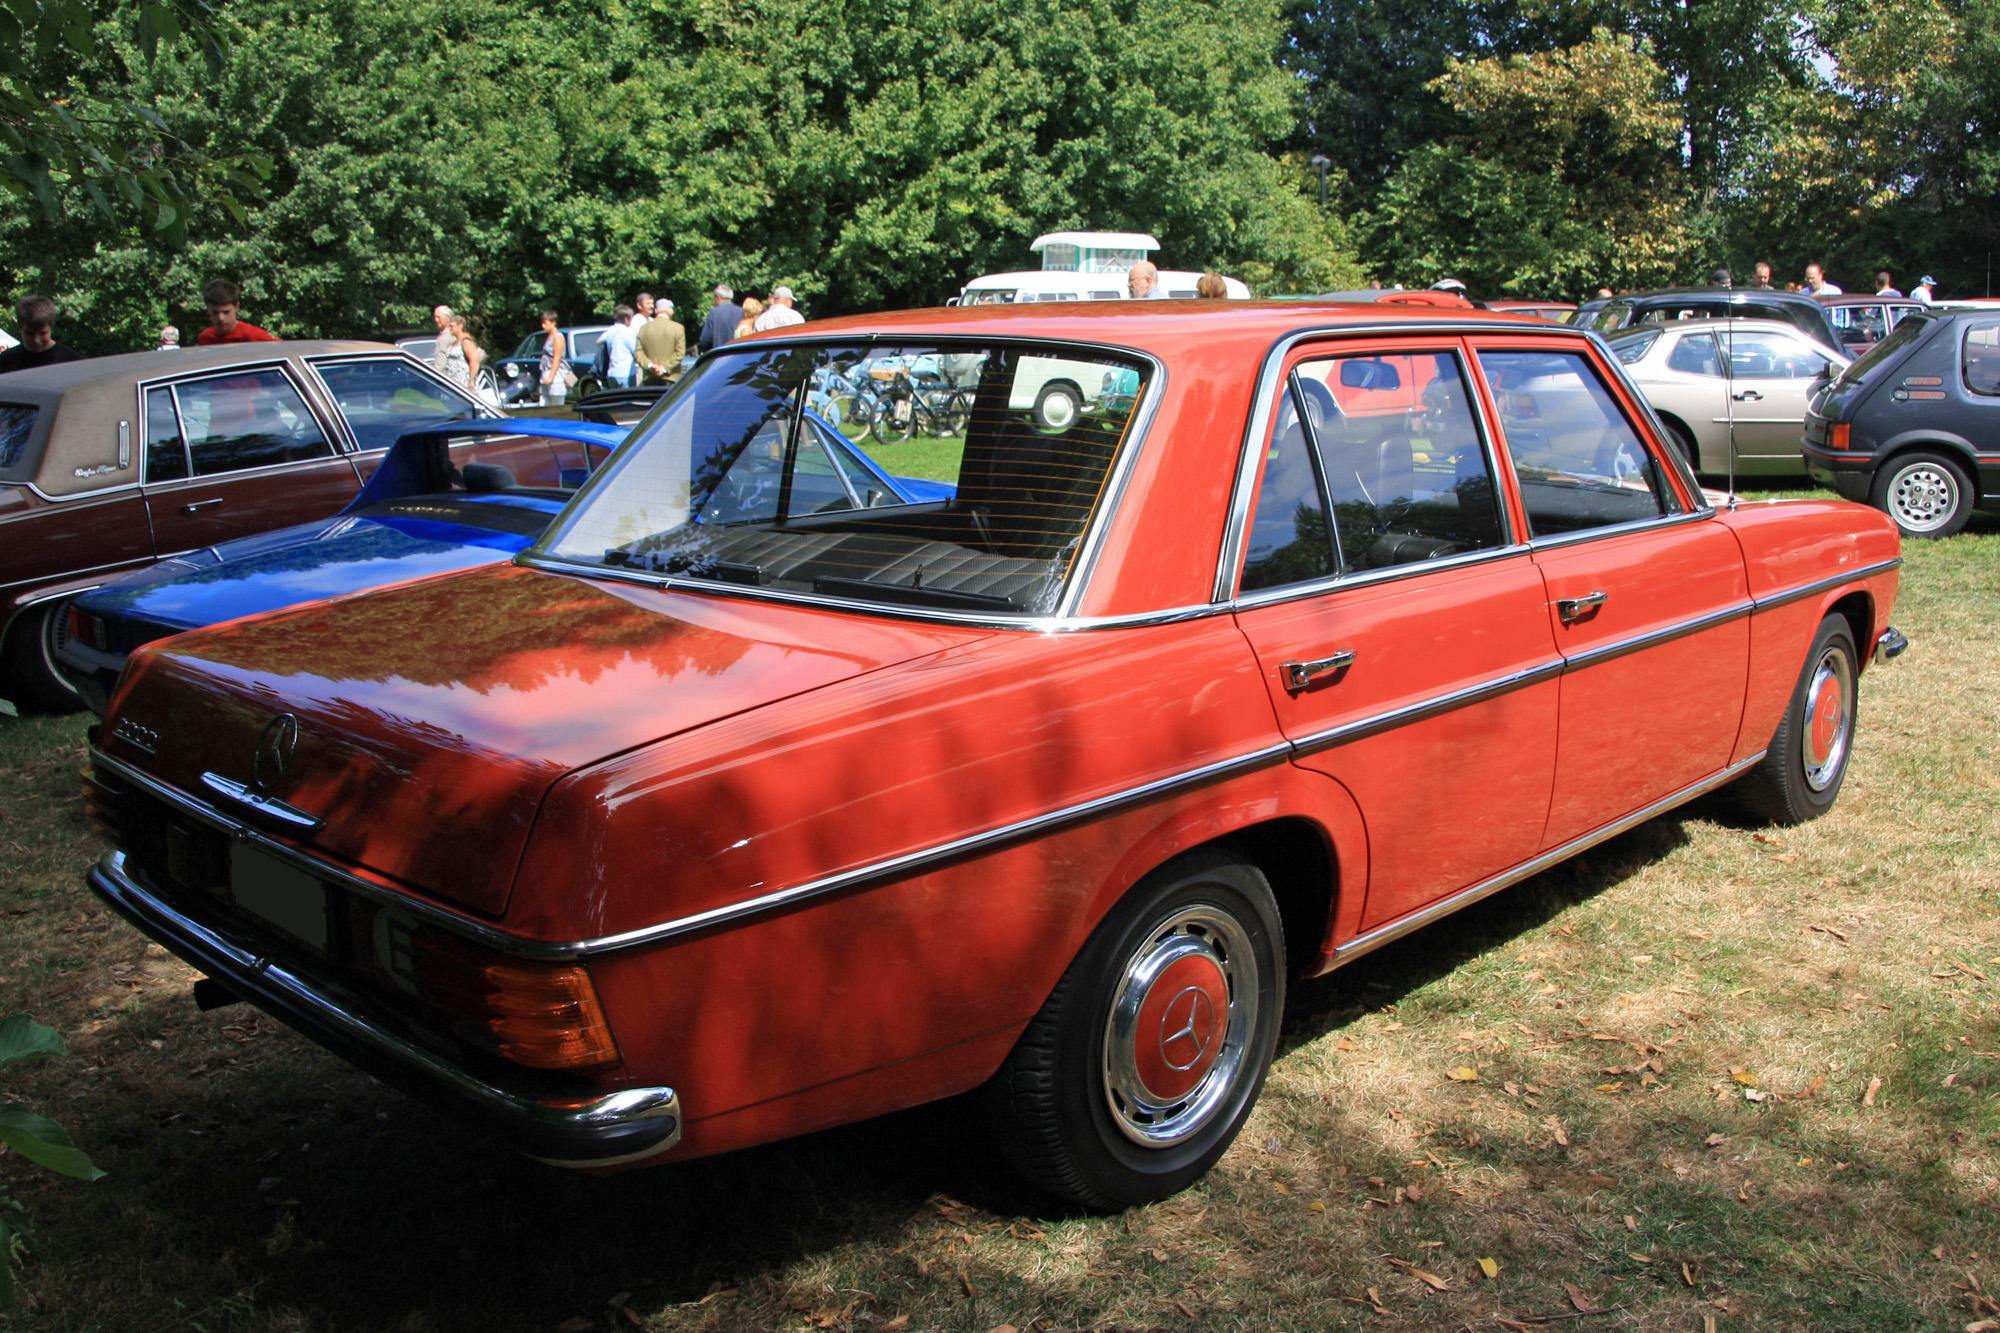
[[1186,907],[1130,959],[1104,1025],[1104,1101],[1142,1147],[1186,1141],[1228,1099],[1256,1025],[1250,937],[1226,913]]

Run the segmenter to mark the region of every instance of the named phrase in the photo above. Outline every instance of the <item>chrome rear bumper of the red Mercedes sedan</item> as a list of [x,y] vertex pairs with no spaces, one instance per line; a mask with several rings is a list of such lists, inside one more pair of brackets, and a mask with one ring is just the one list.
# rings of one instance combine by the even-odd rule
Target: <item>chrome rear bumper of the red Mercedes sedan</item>
[[224,929],[160,901],[132,877],[124,853],[98,861],[90,887],[120,917],[258,1009],[384,1083],[468,1115],[528,1157],[556,1167],[616,1167],[680,1143],[680,1095],[670,1087],[582,1097],[500,1087],[432,1049],[420,1033],[370,1017],[340,981],[306,979],[290,963],[258,957],[248,939],[226,939]]

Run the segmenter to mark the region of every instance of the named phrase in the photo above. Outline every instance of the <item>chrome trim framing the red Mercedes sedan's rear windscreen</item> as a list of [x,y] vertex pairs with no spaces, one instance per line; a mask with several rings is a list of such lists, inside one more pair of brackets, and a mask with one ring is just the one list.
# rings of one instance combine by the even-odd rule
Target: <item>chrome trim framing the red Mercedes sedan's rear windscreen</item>
[[[920,622],[928,622],[928,624],[968,624],[968,626],[980,626],[980,628],[1016,628],[1016,630],[1098,628],[1100,626],[1098,618],[1096,616],[1078,616],[1076,614],[1076,606],[1082,602],[1084,594],[1088,592],[1090,576],[1096,572],[1098,556],[1102,554],[1104,542],[1108,540],[1108,532],[1110,532],[1112,522],[1116,520],[1118,506],[1124,500],[1124,488],[1126,488],[1126,484],[1128,484],[1134,468],[1138,466],[1138,456],[1140,456],[1140,452],[1146,446],[1146,436],[1152,430],[1152,420],[1158,414],[1160,398],[1164,396],[1164,390],[1166,390],[1166,364],[1158,356],[1154,356],[1152,352],[1144,352],[1140,348],[1130,348],[1130,346],[1124,346],[1124,344],[1118,344],[1118,342],[1080,342],[1076,338],[1032,338],[1032,336],[1024,336],[1024,334],[994,334],[994,336],[988,336],[988,338],[970,338],[970,336],[952,334],[952,336],[942,336],[942,338],[920,338],[916,334],[886,334],[886,332],[858,332],[858,334],[832,334],[832,332],[820,334],[820,332],[816,332],[816,334],[800,334],[800,336],[790,336],[790,338],[758,338],[754,344],[746,342],[736,352],[724,352],[720,348],[710,350],[696,364],[694,372],[684,374],[680,378],[680,384],[682,386],[688,384],[694,378],[694,374],[706,370],[710,366],[710,360],[714,360],[716,364],[720,364],[728,356],[742,356],[742,354],[750,354],[750,352],[766,352],[772,346],[792,346],[792,344],[802,344],[802,346],[816,346],[816,344],[826,344],[826,346],[856,346],[856,344],[862,344],[862,346],[900,346],[900,344],[906,344],[906,342],[926,342],[926,344],[932,344],[932,346],[936,346],[936,344],[978,344],[978,346],[1008,344],[1008,346],[1078,348],[1082,352],[1090,352],[1090,354],[1098,354],[1098,356],[1102,356],[1104,352],[1112,352],[1112,354],[1118,354],[1118,356],[1128,356],[1128,358],[1140,360],[1140,362],[1144,362],[1146,366],[1152,368],[1152,378],[1146,384],[1146,394],[1142,396],[1140,404],[1134,408],[1132,418],[1126,422],[1126,430],[1124,430],[1122,442],[1118,446],[1118,458],[1112,462],[1112,470],[1104,478],[1104,488],[1098,492],[1096,510],[1090,514],[1090,522],[1084,526],[1082,540],[1076,546],[1076,556],[1070,560],[1070,572],[1064,578],[1062,600],[1056,602],[1056,610],[1052,610],[1052,612],[1030,612],[1030,610],[1020,610],[1020,612],[976,612],[976,610],[972,610],[972,612],[968,612],[968,610],[950,610],[950,608],[942,608],[942,606],[904,606],[904,604],[896,604],[896,602],[866,602],[866,600],[860,600],[860,598],[828,596],[826,592],[796,592],[796,590],[786,590],[786,588],[760,588],[760,586],[750,586],[750,584],[740,584],[740,582],[724,582],[720,578],[714,578],[714,580],[712,578],[688,578],[684,574],[654,574],[654,572],[648,572],[648,570],[612,568],[612,566],[588,564],[588,562],[580,562],[580,560],[560,560],[556,556],[536,554],[536,546],[540,542],[536,542],[536,546],[530,546],[530,548],[522,550],[520,554],[516,554],[512,562],[514,564],[522,564],[526,568],[540,568],[540,570],[558,572],[558,574],[582,574],[586,578],[610,578],[614,582],[630,582],[630,584],[638,584],[638,586],[646,586],[646,588],[664,588],[664,590],[680,590],[680,592],[716,592],[716,594],[722,594],[722,596],[746,596],[746,598],[754,598],[754,600],[790,602],[790,604],[796,604],[796,606],[818,606],[822,610],[856,610],[856,612],[878,614],[878,616],[886,614],[886,616],[892,616],[892,618],[898,618],[898,620],[920,620]],[[678,394],[680,394],[678,388],[670,388],[668,390],[668,396],[678,396]],[[654,412],[660,412],[662,406],[664,406],[664,400],[662,400],[662,404],[654,404],[654,408],[646,412],[646,420],[650,420],[654,416]],[[638,430],[638,426],[634,426],[634,432],[636,430]],[[876,464],[876,466],[880,466],[880,464]],[[608,474],[606,468],[600,466],[592,474],[592,478],[590,478],[592,484],[596,484],[598,478],[606,476],[606,474]],[[584,494],[584,492],[580,490],[578,494]],[[550,528],[554,528],[554,524],[550,524]],[[1182,618],[1188,618],[1188,616],[1180,614],[1180,610],[1176,608],[1176,610],[1168,610],[1168,612],[1140,612],[1136,616],[1106,616],[1104,620],[1116,622],[1118,626],[1124,626],[1124,624],[1154,624],[1154,622],[1164,622],[1164,620],[1156,620],[1154,616],[1164,616],[1164,620],[1182,620]]]

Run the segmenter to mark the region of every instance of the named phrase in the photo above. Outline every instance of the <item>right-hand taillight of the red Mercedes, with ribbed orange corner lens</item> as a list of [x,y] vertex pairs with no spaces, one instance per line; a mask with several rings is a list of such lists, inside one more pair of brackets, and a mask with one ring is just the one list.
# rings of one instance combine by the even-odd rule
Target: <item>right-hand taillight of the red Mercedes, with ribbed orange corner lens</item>
[[532,963],[416,933],[416,993],[496,1055],[532,1069],[616,1065],[618,1043],[580,963]]

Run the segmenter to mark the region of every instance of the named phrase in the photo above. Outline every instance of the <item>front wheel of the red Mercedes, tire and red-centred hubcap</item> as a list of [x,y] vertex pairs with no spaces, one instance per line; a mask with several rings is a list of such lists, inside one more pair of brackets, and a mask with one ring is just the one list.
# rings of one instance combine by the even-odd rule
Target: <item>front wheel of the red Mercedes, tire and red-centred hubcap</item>
[[1774,825],[1802,825],[1834,809],[1854,755],[1860,656],[1846,616],[1826,616],[1806,669],[1756,769],[1736,781],[1742,807]]

